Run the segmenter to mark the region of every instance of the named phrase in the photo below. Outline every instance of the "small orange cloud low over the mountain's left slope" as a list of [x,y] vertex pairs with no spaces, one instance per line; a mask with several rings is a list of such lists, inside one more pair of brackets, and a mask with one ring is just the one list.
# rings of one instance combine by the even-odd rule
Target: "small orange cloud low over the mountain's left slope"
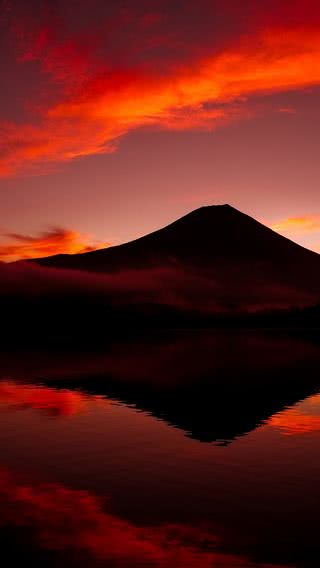
[[0,243],[0,260],[11,262],[28,258],[41,258],[54,254],[89,252],[109,246],[110,243],[90,242],[88,235],[56,227],[37,237],[9,233],[8,242]]

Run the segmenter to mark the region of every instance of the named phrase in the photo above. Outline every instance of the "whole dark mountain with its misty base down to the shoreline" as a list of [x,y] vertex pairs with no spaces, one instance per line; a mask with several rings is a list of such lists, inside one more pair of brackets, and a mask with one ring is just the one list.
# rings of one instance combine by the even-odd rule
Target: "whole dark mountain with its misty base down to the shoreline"
[[319,327],[320,255],[228,205],[123,245],[0,272],[8,341],[26,342],[30,326],[68,344],[138,328]]

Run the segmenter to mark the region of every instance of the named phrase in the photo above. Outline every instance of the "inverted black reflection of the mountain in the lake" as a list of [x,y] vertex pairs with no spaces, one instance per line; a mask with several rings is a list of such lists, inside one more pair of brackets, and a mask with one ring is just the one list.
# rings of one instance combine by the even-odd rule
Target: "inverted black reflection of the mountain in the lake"
[[317,342],[274,333],[192,332],[104,353],[27,356],[1,374],[119,400],[202,442],[227,443],[317,391]]

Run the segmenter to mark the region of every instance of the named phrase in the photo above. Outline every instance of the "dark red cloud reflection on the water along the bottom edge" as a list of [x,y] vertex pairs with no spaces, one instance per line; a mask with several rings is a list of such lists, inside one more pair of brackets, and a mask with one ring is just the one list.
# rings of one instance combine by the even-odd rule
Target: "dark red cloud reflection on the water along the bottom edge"
[[[88,491],[62,484],[22,484],[0,470],[0,526],[17,529],[24,554],[28,544],[52,551],[57,564],[166,568],[257,568],[245,556],[220,552],[208,530],[190,526],[136,526],[104,509]],[[24,538],[24,532],[28,538]],[[79,563],[79,564],[78,564]],[[264,564],[265,568],[276,568]]]

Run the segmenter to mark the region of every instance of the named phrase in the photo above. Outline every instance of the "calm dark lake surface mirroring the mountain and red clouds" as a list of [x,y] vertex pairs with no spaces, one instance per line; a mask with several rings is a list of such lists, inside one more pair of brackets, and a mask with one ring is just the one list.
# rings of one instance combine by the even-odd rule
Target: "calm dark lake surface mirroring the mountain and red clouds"
[[319,363],[271,332],[3,353],[7,565],[318,567]]

